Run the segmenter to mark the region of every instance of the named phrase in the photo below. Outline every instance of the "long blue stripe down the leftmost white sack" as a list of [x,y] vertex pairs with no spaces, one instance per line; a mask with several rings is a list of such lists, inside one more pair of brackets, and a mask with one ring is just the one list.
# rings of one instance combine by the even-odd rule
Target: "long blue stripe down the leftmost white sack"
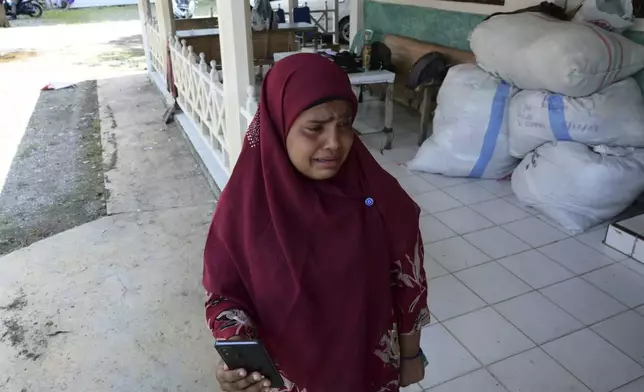
[[490,120],[487,124],[485,137],[483,138],[483,146],[479,159],[470,172],[470,177],[481,178],[487,169],[487,165],[494,156],[494,149],[496,148],[496,140],[501,133],[501,126],[503,126],[503,118],[505,117],[505,106],[508,103],[510,95],[510,85],[501,82],[496,88],[494,100],[492,101],[492,109],[490,110]]

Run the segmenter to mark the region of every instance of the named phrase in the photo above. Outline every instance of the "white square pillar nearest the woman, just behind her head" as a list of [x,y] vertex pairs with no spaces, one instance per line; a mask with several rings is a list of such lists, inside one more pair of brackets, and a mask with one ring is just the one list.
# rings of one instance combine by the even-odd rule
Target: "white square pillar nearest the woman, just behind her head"
[[237,162],[246,134],[239,109],[246,104],[248,87],[254,82],[250,9],[245,1],[217,0],[224,79],[226,136],[230,167]]

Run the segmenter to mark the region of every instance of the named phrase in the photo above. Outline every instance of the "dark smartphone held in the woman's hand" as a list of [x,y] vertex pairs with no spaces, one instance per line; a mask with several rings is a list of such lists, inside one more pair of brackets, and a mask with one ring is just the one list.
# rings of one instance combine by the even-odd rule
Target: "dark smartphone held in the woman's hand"
[[284,387],[282,376],[260,342],[223,340],[215,343],[215,349],[229,369],[245,369],[248,374],[258,372],[271,382],[271,388]]

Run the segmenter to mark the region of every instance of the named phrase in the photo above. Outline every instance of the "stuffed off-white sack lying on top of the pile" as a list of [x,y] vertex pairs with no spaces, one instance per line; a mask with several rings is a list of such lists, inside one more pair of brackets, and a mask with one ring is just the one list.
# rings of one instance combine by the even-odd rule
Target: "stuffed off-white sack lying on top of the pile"
[[593,94],[644,68],[644,46],[590,23],[498,15],[472,32],[479,65],[525,90]]

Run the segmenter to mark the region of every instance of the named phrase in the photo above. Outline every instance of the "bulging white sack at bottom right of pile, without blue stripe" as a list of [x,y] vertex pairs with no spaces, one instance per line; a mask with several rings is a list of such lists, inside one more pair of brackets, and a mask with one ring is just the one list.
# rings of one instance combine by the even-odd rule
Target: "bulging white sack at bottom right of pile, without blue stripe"
[[579,234],[611,219],[644,192],[644,149],[548,143],[512,174],[525,205]]

